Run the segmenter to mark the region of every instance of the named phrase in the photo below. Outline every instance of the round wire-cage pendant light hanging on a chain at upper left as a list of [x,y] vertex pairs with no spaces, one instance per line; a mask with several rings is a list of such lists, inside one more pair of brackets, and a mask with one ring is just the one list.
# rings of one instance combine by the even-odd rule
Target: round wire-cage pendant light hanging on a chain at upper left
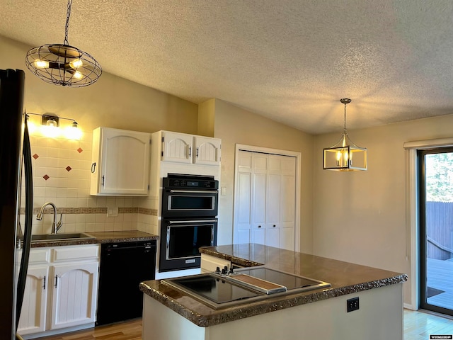
[[68,0],[63,44],[42,45],[27,52],[25,64],[43,81],[61,86],[88,86],[101,77],[101,65],[88,53],[68,43],[69,16],[72,0]]

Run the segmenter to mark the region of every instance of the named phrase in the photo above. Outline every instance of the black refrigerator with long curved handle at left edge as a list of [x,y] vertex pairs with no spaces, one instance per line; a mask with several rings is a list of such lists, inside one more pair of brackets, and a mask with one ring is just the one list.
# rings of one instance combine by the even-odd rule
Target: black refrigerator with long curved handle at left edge
[[[2,340],[16,339],[30,254],[33,176],[27,119],[23,115],[24,82],[25,74],[22,70],[0,69],[0,339]],[[21,190],[25,190],[25,202],[21,202]],[[21,225],[20,210],[24,205],[25,223]]]

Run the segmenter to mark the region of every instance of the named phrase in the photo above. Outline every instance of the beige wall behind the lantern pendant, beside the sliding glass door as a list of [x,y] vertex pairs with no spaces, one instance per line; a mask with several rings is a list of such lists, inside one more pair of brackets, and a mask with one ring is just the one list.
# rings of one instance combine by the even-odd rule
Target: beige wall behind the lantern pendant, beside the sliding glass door
[[[452,137],[453,115],[348,131],[368,149],[368,171],[323,171],[323,147],[337,134],[316,136],[314,254],[411,273],[411,230],[406,226],[406,153],[403,143]],[[406,257],[407,256],[407,257]],[[411,280],[404,284],[411,303]]]

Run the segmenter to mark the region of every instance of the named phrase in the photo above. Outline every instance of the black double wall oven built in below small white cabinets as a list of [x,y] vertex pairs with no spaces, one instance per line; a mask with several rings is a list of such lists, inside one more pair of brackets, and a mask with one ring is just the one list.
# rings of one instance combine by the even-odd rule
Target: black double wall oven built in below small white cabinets
[[217,244],[219,181],[168,174],[162,179],[159,271],[200,267],[200,246]]

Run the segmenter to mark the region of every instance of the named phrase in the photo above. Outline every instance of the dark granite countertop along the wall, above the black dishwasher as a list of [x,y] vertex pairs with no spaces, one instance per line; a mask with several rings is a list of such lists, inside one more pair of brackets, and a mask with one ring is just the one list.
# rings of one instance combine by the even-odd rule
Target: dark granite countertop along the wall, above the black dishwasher
[[77,244],[103,244],[113,242],[137,242],[137,241],[152,241],[159,239],[159,236],[149,234],[147,232],[139,232],[138,230],[127,230],[124,232],[84,232],[92,239],[57,239],[46,240],[40,242],[32,242],[32,248],[40,248],[45,246],[73,246]]

